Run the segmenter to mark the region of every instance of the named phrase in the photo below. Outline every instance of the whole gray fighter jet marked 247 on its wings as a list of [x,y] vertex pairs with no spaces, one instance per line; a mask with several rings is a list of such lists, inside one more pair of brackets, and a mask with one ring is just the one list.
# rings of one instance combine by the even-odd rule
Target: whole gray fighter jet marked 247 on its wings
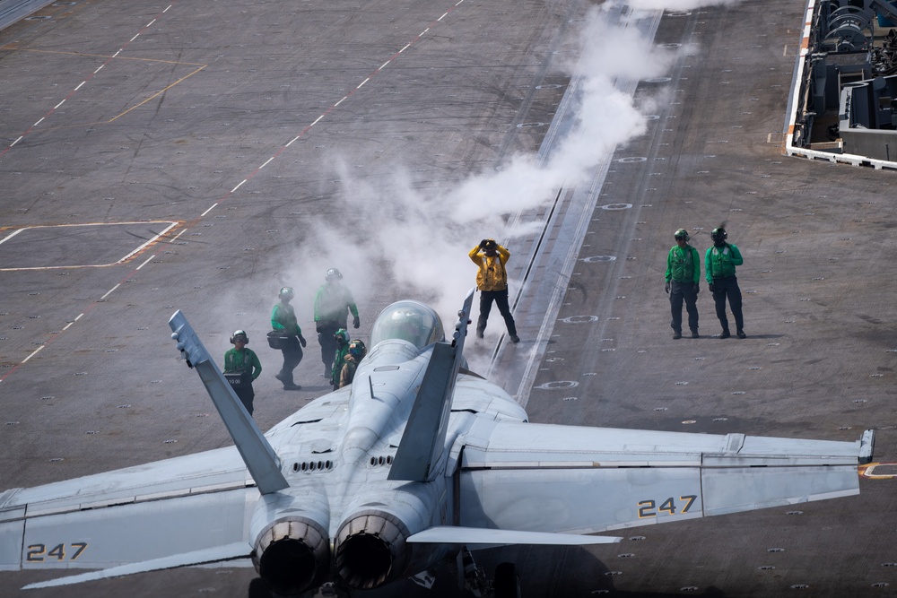
[[[595,544],[588,535],[858,494],[856,442],[527,422],[466,369],[474,290],[446,340],[416,301],[384,309],[352,386],[265,435],[183,314],[170,319],[235,446],[0,494],[0,568],[99,569],[27,587],[252,559],[272,594],[424,583],[461,558],[475,595],[518,595],[476,547]],[[126,530],[126,533],[122,533]]]

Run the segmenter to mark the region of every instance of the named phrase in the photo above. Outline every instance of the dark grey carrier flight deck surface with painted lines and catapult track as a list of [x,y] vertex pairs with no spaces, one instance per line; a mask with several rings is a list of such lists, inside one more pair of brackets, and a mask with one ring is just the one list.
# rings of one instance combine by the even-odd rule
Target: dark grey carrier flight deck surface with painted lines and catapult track
[[[248,330],[263,430],[327,392],[310,308],[327,268],[355,294],[353,335],[398,299],[434,303],[450,326],[474,281],[466,251],[500,232],[477,224],[488,204],[447,221],[431,199],[519,153],[550,161],[588,87],[570,65],[591,6],[58,2],[0,31],[0,490],[229,444],[177,360],[176,309],[222,355]],[[893,595],[897,175],[782,155],[802,5],[669,9],[605,6],[648,36],[635,49],[671,56],[627,82],[640,55],[620,41],[617,87],[646,128],[544,203],[509,209],[525,230],[500,238],[522,341],[493,309],[471,367],[533,421],[831,440],[875,428],[882,475],[858,497],[479,561],[516,561],[525,596]],[[618,134],[605,113],[598,146]],[[701,338],[674,341],[673,231],[703,255],[722,222],[745,256],[747,338],[713,336],[701,283]],[[427,290],[409,297],[410,280]],[[309,338],[292,393],[264,342],[285,284]],[[255,577],[18,589],[63,574],[3,572],[0,595],[245,596]],[[370,595],[453,588],[442,576],[431,592]]]

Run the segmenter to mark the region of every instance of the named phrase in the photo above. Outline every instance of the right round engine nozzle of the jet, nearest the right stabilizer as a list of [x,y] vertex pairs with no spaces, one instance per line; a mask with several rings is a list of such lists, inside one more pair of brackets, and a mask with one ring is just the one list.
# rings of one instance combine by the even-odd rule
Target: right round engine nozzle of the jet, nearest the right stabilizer
[[346,584],[370,590],[405,572],[409,553],[405,524],[383,511],[367,510],[349,518],[336,533],[336,571]]

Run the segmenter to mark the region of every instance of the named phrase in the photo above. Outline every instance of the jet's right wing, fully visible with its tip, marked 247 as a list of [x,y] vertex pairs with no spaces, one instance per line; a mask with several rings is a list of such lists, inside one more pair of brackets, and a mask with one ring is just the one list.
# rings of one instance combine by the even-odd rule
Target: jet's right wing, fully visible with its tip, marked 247
[[477,421],[460,525],[597,533],[859,493],[857,442]]

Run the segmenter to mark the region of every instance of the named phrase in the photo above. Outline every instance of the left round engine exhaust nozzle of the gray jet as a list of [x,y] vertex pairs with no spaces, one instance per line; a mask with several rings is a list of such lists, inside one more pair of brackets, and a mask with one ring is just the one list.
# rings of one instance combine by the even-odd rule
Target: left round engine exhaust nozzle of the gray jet
[[252,561],[274,594],[300,594],[327,575],[327,530],[302,516],[287,516],[258,535]]

